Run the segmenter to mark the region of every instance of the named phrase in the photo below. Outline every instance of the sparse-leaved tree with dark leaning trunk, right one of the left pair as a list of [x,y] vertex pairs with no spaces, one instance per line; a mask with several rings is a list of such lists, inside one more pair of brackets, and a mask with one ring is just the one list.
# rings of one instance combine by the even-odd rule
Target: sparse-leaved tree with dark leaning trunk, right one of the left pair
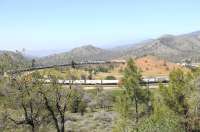
[[39,94],[43,98],[46,112],[50,115],[57,132],[65,131],[65,112],[71,93],[57,83],[56,77],[51,77],[51,84],[39,89]]

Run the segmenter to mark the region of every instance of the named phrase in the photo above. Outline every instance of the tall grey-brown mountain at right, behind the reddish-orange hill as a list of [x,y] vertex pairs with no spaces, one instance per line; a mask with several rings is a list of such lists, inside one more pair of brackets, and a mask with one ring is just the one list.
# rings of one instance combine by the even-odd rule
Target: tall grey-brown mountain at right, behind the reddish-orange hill
[[182,59],[200,61],[200,32],[179,36],[164,35],[129,47],[122,54],[124,57],[144,55],[153,55],[174,62],[180,62]]

